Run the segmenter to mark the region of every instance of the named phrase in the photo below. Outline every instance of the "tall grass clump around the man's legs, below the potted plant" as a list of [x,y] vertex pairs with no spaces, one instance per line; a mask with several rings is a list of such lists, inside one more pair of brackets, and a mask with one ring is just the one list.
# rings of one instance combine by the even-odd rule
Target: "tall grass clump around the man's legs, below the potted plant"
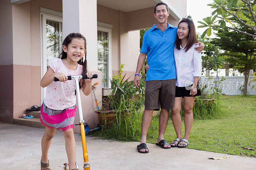
[[[112,122],[112,125],[108,126],[105,123],[100,131],[96,131],[92,135],[122,141],[140,140],[143,108],[138,108],[134,104],[127,107],[123,101],[124,96],[121,98],[122,104],[117,109],[116,120]],[[158,127],[158,117],[152,117],[147,138],[156,138]]]

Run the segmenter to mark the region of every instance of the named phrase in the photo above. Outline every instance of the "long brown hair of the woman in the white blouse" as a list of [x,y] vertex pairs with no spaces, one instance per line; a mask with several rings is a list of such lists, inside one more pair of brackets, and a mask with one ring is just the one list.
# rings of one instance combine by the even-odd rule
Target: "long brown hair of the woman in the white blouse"
[[[180,23],[182,22],[185,22],[188,24],[188,43],[186,45],[186,47],[184,48],[184,50],[187,52],[189,50],[189,48],[191,46],[193,46],[194,43],[198,43],[198,39],[196,37],[196,27],[195,27],[195,24],[193,23],[193,21],[189,18],[185,18],[185,19],[182,19],[180,21]],[[179,23],[179,25],[180,25]],[[179,27],[178,25],[178,27]],[[179,39],[179,36],[177,34],[177,38],[176,38],[176,48],[178,50],[180,50],[180,44],[181,44],[181,39]]]

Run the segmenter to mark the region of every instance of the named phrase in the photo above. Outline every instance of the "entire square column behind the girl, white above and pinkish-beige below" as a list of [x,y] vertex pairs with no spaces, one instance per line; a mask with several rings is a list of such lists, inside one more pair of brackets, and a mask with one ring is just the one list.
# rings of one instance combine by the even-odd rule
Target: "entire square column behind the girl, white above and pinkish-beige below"
[[[98,70],[97,51],[97,2],[94,0],[62,0],[63,9],[63,39],[72,32],[80,32],[87,41],[87,67],[90,72],[99,75],[93,82],[99,82],[95,90],[98,101],[102,100],[101,72]],[[98,124],[97,115],[94,113],[96,107],[94,96],[91,93],[85,96],[81,91],[81,103],[84,122],[91,128]],[[101,107],[101,103],[99,104]],[[78,110],[75,123],[79,121]],[[74,132],[80,133],[80,128],[75,127]]]

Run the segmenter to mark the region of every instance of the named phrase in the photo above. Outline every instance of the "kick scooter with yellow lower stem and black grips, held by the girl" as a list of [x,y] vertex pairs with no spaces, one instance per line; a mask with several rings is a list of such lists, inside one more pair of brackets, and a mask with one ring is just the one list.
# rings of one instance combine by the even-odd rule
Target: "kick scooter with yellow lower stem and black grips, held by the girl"
[[[94,74],[91,79],[97,78],[98,75]],[[84,170],[90,170],[90,164],[88,160],[88,153],[87,153],[87,147],[86,147],[86,139],[85,139],[85,131],[84,131],[84,119],[83,119],[83,113],[82,113],[82,105],[81,105],[81,97],[80,97],[80,89],[79,89],[79,79],[88,79],[86,75],[69,75],[68,80],[75,80],[76,82],[76,97],[77,97],[77,107],[78,107],[78,113],[79,113],[79,124],[80,125],[80,131],[81,131],[81,138],[82,138],[82,146],[83,146],[83,156],[84,156]],[[54,81],[60,81],[56,77],[54,77]],[[68,164],[64,164],[65,170],[68,170]],[[76,168],[78,169],[78,165],[76,163]]]

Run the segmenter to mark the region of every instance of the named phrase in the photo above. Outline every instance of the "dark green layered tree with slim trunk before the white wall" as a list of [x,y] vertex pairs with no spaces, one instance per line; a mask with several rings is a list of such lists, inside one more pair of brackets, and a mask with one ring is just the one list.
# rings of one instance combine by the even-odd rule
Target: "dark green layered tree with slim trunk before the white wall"
[[[246,31],[249,34],[254,33],[253,30],[248,30],[244,24],[236,21],[235,18],[230,20],[236,23],[236,26],[233,26],[235,29]],[[255,38],[227,28],[215,28],[215,30],[218,31],[215,33],[218,38],[213,38],[212,43],[224,50],[221,55],[226,56],[227,65],[231,65],[232,68],[244,73],[244,95],[246,95],[250,69],[256,68]]]

